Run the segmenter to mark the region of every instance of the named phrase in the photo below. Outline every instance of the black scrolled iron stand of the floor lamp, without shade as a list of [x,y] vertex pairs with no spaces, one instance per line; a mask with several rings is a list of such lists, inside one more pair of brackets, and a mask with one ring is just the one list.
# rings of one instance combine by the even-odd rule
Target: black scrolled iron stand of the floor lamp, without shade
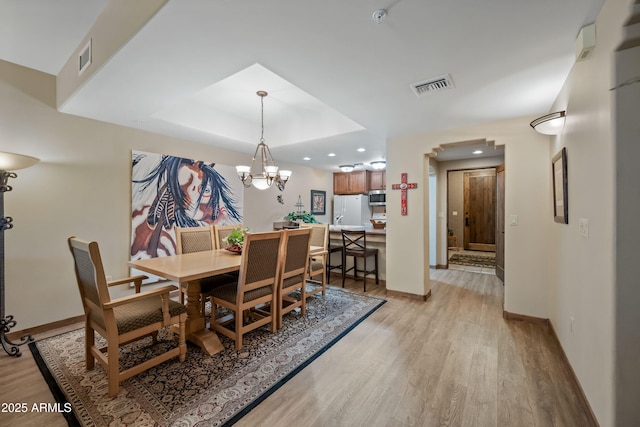
[[4,216],[4,193],[11,191],[11,186],[7,184],[9,178],[15,178],[14,172],[0,171],[0,341],[2,348],[9,356],[19,357],[22,355],[19,347],[33,341],[31,335],[24,335],[19,342],[13,342],[7,338],[11,328],[16,326],[13,316],[8,316],[4,308],[4,231],[13,228],[13,218]]

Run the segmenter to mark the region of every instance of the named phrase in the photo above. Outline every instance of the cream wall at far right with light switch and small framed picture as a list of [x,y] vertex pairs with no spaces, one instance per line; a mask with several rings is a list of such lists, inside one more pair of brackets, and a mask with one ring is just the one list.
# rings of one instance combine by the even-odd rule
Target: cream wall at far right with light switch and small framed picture
[[[569,176],[569,224],[553,224],[551,233],[550,320],[603,426],[616,425],[616,165],[610,88],[614,86],[613,51],[620,43],[629,4],[610,0],[603,6],[591,57],[574,65],[552,107],[553,111],[566,109],[567,120],[563,132],[551,139],[548,153],[551,158],[567,148]],[[637,107],[638,99],[632,106],[636,121]],[[580,218],[589,220],[588,237],[579,233]]]

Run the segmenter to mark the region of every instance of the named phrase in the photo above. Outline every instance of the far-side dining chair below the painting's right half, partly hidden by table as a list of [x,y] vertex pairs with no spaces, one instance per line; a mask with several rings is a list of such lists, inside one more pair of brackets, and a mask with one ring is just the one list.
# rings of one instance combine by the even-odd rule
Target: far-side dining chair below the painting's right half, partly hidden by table
[[[176,227],[176,252],[188,254],[193,252],[211,251],[216,249],[213,226]],[[200,312],[206,315],[206,294],[216,286],[233,283],[237,276],[233,274],[219,274],[200,279]],[[187,292],[186,284],[180,286],[180,302],[184,304]]]

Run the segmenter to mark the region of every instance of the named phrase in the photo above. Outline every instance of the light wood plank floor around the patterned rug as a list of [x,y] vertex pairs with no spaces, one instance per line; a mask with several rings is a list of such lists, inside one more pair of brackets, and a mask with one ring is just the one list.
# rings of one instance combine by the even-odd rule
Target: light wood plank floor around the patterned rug
[[[237,425],[590,425],[548,328],[503,320],[495,276],[431,274],[429,301],[388,297]],[[347,288],[361,292],[362,283]],[[381,286],[368,289],[385,297]],[[0,402],[53,402],[31,353],[23,353],[0,355]],[[66,423],[60,414],[0,413],[0,425]]]

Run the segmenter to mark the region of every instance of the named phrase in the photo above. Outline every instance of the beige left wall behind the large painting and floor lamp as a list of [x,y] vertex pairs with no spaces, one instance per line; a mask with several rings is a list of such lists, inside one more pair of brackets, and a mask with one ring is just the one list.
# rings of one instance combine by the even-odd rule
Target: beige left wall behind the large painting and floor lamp
[[[0,151],[41,159],[17,171],[14,190],[5,194],[5,215],[14,219],[5,232],[6,307],[18,321],[14,330],[82,314],[66,241],[71,235],[99,242],[108,275],[128,275],[132,149],[228,165],[251,157],[61,114],[51,106],[54,93],[53,76],[0,61]],[[311,189],[331,199],[331,173],[280,166],[293,170],[284,192],[245,191],[244,222],[252,231],[270,230],[296,209],[298,195],[309,210]]]

